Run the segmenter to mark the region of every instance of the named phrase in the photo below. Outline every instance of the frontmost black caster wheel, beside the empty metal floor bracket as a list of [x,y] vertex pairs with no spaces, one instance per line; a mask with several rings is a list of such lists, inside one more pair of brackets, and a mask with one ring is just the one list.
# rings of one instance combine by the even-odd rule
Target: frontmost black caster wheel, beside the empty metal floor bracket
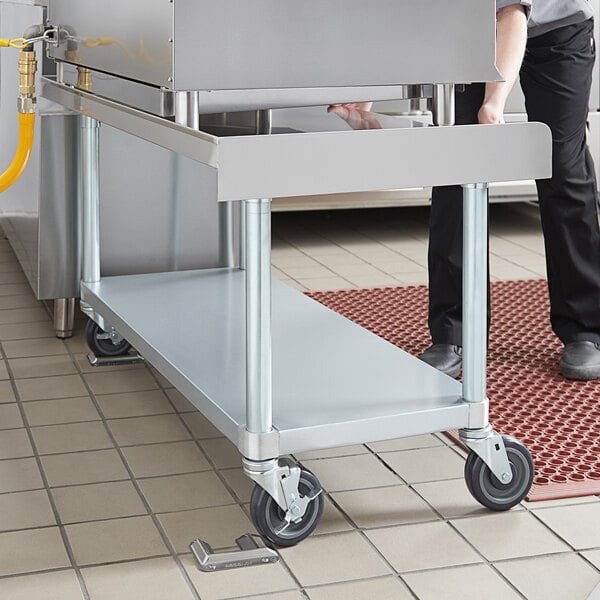
[[[300,471],[298,491],[302,496],[318,493],[321,489],[319,480],[310,472]],[[294,546],[307,538],[319,524],[323,516],[325,499],[319,494],[306,508],[306,513],[298,523],[290,523],[284,529],[285,511],[258,484],[255,485],[250,498],[250,516],[258,532],[276,546]]]

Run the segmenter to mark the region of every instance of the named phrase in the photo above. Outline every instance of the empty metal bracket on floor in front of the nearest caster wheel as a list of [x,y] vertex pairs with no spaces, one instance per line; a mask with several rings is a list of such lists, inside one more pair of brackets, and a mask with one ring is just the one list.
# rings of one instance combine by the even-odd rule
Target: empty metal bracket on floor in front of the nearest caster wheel
[[279,554],[267,548],[258,535],[246,533],[235,540],[235,543],[239,550],[215,553],[206,542],[194,540],[190,544],[190,550],[200,570],[207,572],[253,567],[279,561]]

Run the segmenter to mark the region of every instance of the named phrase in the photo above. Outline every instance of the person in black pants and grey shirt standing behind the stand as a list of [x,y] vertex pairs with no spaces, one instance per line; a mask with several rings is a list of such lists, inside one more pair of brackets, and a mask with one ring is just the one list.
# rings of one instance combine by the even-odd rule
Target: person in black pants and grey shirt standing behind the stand
[[[595,61],[593,11],[587,0],[532,0],[521,4],[531,4],[520,68],[527,115],[530,121],[547,124],[552,132],[552,177],[536,185],[546,250],[550,322],[564,344],[559,371],[568,379],[600,379],[598,191],[586,142]],[[512,85],[514,63],[510,57],[520,52],[520,26],[514,14],[506,22],[508,33],[502,34],[502,11],[519,10],[511,6],[498,12],[498,67],[506,82],[473,84],[457,93],[457,124],[503,122],[504,102]],[[503,70],[500,60],[507,56],[509,62]],[[420,358],[456,377],[462,358],[460,187],[433,190],[428,269],[432,345]]]

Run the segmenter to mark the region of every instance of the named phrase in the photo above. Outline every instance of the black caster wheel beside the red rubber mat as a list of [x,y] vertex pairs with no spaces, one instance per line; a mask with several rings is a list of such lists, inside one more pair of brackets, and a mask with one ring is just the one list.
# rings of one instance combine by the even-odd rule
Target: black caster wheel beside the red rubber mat
[[475,453],[470,452],[465,462],[465,481],[469,491],[483,506],[492,510],[508,510],[516,506],[531,488],[534,467],[529,450],[519,440],[503,435],[512,481],[502,483]]

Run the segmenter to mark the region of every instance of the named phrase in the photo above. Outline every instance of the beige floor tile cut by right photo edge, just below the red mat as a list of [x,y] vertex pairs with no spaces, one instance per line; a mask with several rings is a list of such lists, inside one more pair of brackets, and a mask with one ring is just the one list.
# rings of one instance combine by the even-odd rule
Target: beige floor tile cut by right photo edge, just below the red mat
[[576,550],[600,548],[600,503],[563,506],[534,511],[550,529]]

